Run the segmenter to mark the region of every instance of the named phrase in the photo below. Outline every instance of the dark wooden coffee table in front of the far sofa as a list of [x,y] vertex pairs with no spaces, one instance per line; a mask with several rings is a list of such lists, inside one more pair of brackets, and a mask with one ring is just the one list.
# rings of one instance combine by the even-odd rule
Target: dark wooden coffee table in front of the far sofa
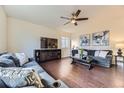
[[93,59],[90,56],[87,56],[88,58],[86,59],[82,59],[82,58],[78,58],[78,57],[71,57],[72,58],[72,63],[80,63],[83,64],[85,66],[88,66],[88,69],[91,70],[93,68]]

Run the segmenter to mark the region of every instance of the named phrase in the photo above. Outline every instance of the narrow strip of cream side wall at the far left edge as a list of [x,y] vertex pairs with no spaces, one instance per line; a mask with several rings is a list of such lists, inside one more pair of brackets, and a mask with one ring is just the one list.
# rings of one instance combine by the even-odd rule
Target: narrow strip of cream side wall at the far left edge
[[0,52],[7,51],[7,17],[0,6]]

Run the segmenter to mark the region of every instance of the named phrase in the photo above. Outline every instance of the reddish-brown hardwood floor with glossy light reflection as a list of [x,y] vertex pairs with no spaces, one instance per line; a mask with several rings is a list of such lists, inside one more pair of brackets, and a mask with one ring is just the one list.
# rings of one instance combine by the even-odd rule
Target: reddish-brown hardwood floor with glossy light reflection
[[71,88],[113,88],[124,87],[124,68],[122,65],[112,68],[95,66],[88,70],[86,66],[71,64],[70,58],[42,63],[42,67],[55,79],[63,80]]

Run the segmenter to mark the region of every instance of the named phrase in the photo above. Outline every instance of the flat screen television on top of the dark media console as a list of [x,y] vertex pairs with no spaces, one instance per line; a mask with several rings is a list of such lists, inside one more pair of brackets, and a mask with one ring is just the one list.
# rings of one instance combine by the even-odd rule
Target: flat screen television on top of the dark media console
[[58,48],[58,39],[41,37],[41,48]]

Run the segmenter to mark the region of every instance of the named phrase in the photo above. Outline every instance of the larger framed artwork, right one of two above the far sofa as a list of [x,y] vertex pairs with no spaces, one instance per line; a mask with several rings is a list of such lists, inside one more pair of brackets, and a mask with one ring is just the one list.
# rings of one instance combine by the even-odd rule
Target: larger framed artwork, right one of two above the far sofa
[[109,32],[102,31],[92,34],[92,45],[108,46],[109,45]]

